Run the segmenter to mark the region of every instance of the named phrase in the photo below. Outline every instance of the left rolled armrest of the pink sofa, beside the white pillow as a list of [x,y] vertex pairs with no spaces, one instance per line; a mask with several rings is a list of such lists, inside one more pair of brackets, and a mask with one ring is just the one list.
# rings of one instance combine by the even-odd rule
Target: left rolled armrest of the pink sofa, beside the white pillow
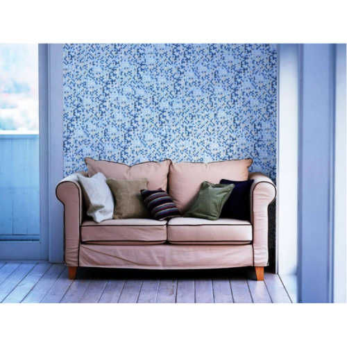
[[80,227],[83,219],[83,194],[76,172],[67,176],[56,187],[56,196],[64,205],[64,256],[67,266],[78,266]]

